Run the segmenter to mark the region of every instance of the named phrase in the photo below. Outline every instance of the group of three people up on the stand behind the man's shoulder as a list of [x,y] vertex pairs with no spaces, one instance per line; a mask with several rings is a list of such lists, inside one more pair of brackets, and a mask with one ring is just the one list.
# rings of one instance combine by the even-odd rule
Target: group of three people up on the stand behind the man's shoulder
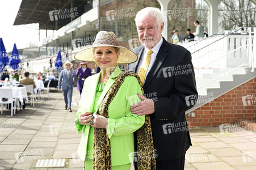
[[[203,26],[200,25],[200,22],[196,20],[194,22],[194,25],[196,27],[195,32],[191,33],[191,29],[187,28],[187,34],[184,36],[183,41],[184,42],[191,42],[195,40],[202,40],[204,39],[204,36],[208,36],[207,33],[204,33]],[[179,44],[182,42],[181,35],[178,34],[178,30],[175,29],[173,31],[173,36],[171,37],[171,43],[172,44]]]

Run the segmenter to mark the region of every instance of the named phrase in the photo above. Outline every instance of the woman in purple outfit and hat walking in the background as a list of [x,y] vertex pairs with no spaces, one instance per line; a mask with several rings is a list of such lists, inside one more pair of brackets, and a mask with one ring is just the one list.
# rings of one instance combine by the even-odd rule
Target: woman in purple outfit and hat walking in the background
[[80,91],[80,96],[83,90],[83,82],[89,76],[91,76],[91,69],[87,67],[87,62],[81,61],[80,67],[77,69],[77,77],[79,75],[78,83],[77,83],[77,90]]

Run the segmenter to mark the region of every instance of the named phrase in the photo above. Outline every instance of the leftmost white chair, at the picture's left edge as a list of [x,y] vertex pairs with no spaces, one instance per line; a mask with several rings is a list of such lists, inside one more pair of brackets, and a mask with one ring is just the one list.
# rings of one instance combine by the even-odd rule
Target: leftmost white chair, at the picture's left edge
[[[12,97],[12,90],[11,89],[0,89],[0,98],[7,98],[7,101],[2,101],[0,100],[1,104],[1,114],[3,114],[3,104],[11,104],[11,116],[14,110],[15,114],[15,109],[14,106],[16,105],[16,100]],[[14,102],[14,104],[13,104]]]

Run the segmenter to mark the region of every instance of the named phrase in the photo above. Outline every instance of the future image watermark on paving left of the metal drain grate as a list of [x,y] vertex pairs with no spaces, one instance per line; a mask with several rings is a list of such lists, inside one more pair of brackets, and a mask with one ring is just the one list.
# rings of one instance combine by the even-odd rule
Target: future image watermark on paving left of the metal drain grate
[[22,163],[27,160],[41,159],[43,158],[44,154],[43,154],[43,149],[39,149],[39,150],[30,150],[30,151],[24,151],[24,152],[16,152],[14,156],[17,163]]

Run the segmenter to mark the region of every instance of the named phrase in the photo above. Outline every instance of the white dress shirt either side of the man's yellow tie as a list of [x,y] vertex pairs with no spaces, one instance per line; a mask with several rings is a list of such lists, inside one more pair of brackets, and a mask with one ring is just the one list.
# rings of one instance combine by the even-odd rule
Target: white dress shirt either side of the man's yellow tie
[[[149,70],[150,70],[151,67],[153,66],[153,63],[154,63],[154,61],[155,61],[155,59],[156,59],[156,57],[157,57],[157,53],[158,53],[158,51],[159,51],[159,49],[160,49],[162,43],[163,43],[163,37],[162,37],[161,40],[157,43],[157,45],[154,46],[154,47],[151,49],[151,50],[153,51],[153,53],[151,53],[151,55],[150,55],[150,62],[149,62],[148,70],[146,70],[146,76],[148,75]],[[140,66],[142,65],[142,62],[143,62],[144,58],[146,58],[146,54],[148,54],[148,52],[149,52],[149,49],[146,48],[146,46],[144,45],[144,53],[143,53],[143,55],[142,55],[141,58],[140,58],[140,62],[139,62],[139,65],[138,65],[138,67],[137,67],[136,74],[139,73]],[[145,81],[146,81],[146,76],[145,76],[144,83],[145,83]]]

